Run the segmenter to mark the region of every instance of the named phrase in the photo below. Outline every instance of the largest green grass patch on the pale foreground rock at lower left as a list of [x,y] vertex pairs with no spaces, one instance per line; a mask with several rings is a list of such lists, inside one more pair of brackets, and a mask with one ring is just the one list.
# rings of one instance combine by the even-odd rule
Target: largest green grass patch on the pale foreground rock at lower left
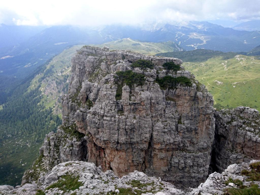
[[50,186],[48,186],[46,190],[49,190],[51,188],[59,188],[60,190],[63,191],[76,190],[79,189],[80,186],[83,186],[82,182],[78,180],[79,180],[79,176],[75,177],[69,174],[63,175],[56,183],[53,183]]

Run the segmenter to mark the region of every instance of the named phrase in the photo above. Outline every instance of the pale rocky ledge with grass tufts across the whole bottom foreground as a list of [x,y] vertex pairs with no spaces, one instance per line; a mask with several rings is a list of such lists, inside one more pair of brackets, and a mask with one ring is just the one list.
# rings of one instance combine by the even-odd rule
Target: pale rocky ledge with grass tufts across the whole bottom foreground
[[186,192],[176,189],[171,183],[160,178],[148,177],[138,171],[121,178],[113,171],[102,172],[101,166],[83,161],[69,161],[56,165],[52,172],[44,175],[44,179],[21,186],[0,186],[0,194],[35,195],[38,194],[129,194],[129,195],[219,195],[226,190],[238,190],[243,194],[245,189],[260,192],[260,181],[252,180],[247,173],[260,174],[259,161],[230,165],[222,174],[214,172],[197,188],[189,188]]

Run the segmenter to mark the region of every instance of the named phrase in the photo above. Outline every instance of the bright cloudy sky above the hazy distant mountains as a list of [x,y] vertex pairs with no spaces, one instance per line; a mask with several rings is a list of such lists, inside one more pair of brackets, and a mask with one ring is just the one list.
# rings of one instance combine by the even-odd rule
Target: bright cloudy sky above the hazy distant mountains
[[[12,0],[0,3],[0,24],[105,25],[260,19],[259,0]],[[217,22],[216,22],[217,23]]]

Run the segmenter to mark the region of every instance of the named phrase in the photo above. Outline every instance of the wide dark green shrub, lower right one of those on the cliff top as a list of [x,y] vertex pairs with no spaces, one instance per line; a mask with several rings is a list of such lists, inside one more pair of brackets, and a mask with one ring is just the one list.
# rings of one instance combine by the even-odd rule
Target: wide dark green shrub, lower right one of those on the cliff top
[[163,89],[174,89],[178,83],[184,86],[191,86],[192,82],[189,78],[185,76],[179,76],[179,77],[172,77],[172,76],[165,76],[162,78],[156,78],[155,80],[161,88]]

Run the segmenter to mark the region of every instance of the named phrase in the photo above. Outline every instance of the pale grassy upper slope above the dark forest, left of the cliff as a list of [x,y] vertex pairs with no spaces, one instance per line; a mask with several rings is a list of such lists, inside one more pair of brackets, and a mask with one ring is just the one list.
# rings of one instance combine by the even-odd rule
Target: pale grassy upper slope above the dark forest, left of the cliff
[[45,108],[52,108],[53,113],[59,114],[61,118],[61,97],[69,87],[69,76],[71,73],[71,59],[77,49],[82,45],[75,45],[65,49],[55,56],[47,65],[44,72],[37,74],[31,81],[28,91],[39,87],[41,101]]

